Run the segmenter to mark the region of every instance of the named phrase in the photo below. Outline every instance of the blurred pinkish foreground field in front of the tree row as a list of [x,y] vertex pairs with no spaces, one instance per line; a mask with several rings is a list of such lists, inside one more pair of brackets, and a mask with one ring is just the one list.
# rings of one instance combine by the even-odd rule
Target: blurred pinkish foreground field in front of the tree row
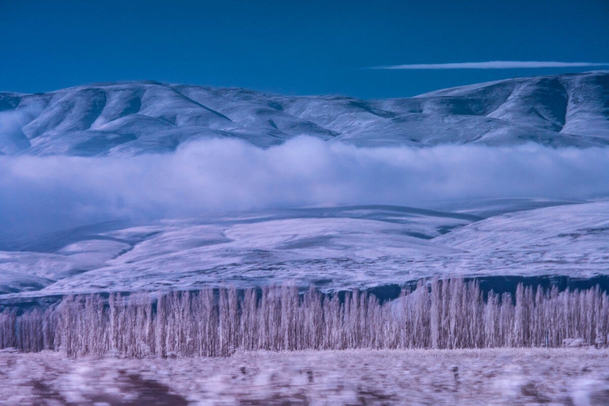
[[605,349],[238,352],[66,359],[0,353],[0,404],[609,405]]

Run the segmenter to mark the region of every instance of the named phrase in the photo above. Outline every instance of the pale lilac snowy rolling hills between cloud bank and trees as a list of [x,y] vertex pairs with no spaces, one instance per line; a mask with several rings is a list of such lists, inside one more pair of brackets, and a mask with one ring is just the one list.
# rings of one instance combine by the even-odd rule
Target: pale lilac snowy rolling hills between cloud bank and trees
[[351,289],[436,275],[606,275],[609,203],[565,203],[284,209],[82,227],[0,251],[0,298],[286,282]]

